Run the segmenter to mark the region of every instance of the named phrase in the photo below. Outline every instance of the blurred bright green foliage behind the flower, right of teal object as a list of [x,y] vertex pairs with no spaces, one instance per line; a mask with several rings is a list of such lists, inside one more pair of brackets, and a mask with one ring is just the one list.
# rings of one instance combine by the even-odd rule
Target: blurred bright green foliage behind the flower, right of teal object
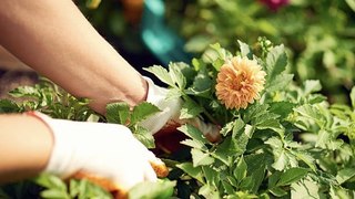
[[287,46],[288,70],[295,81],[320,80],[329,101],[347,102],[347,92],[354,86],[353,0],[291,0],[277,11],[260,1],[164,2],[166,25],[186,41],[186,52],[203,53],[215,42],[234,52],[237,49],[231,39],[252,43],[267,36]]

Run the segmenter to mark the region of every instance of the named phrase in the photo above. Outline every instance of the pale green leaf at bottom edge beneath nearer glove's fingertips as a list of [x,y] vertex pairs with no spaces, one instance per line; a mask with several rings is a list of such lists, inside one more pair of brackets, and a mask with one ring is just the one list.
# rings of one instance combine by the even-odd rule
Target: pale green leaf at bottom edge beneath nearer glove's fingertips
[[165,199],[171,198],[176,181],[158,180],[156,182],[144,181],[129,190],[130,199]]

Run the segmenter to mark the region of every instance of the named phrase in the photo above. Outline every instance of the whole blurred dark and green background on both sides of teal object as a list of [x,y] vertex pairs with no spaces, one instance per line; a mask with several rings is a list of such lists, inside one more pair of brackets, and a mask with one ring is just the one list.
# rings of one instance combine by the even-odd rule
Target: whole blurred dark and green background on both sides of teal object
[[[197,56],[215,42],[233,52],[236,40],[255,43],[266,36],[287,48],[296,82],[320,80],[329,102],[349,102],[355,80],[354,0],[145,0],[145,4],[152,1],[164,3],[164,25],[185,41],[186,54]],[[98,0],[78,6],[132,65],[140,70],[160,64],[141,39],[144,0],[102,0],[97,9],[88,2]]]

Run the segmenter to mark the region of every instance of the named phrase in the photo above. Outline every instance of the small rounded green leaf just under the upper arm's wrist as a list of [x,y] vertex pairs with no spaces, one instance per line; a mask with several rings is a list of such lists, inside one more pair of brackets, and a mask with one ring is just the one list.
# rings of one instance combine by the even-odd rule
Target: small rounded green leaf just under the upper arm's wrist
[[125,102],[106,105],[106,119],[109,123],[126,125],[129,123],[130,106]]

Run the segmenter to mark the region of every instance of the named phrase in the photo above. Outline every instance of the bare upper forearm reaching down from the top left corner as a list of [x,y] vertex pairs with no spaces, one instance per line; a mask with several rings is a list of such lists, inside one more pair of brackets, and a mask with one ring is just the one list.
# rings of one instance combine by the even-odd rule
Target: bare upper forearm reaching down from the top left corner
[[100,112],[108,102],[145,100],[145,81],[71,0],[4,0],[0,34],[20,60],[73,95],[93,100]]

